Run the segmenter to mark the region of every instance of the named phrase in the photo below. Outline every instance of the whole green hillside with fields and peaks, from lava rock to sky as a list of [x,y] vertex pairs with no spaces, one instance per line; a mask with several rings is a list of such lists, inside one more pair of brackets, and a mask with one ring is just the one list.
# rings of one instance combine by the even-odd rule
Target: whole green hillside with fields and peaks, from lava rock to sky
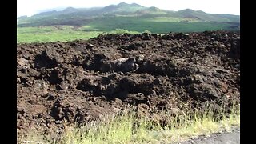
[[200,10],[161,10],[136,3],[106,7],[68,7],[17,19],[19,42],[55,42],[88,39],[106,33],[199,32],[240,30],[240,16],[206,14]]

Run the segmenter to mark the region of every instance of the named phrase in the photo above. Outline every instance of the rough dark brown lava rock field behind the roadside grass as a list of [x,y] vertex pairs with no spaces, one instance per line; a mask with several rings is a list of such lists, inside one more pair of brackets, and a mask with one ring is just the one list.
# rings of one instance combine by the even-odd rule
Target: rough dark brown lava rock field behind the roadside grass
[[[18,134],[126,105],[181,110],[240,97],[240,34],[107,34],[17,45]],[[198,105],[199,104],[199,105]]]

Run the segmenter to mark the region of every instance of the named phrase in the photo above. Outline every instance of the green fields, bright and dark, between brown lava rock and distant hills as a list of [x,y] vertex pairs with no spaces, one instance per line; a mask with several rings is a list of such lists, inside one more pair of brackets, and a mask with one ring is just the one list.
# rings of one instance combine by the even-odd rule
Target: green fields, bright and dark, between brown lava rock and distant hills
[[136,18],[103,17],[87,22],[83,26],[34,26],[17,27],[17,42],[67,42],[77,39],[89,39],[102,33],[138,34],[150,31],[157,34],[169,32],[202,32],[205,30],[239,30],[237,23],[196,22],[181,18]]

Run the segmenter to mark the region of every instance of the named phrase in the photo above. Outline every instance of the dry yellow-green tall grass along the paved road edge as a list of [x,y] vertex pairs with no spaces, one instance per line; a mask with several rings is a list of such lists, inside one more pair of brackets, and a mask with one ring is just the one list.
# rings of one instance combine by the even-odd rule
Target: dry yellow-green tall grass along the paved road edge
[[72,144],[177,143],[199,135],[231,131],[240,126],[239,108],[240,104],[234,102],[229,110],[225,106],[214,110],[213,106],[207,105],[204,110],[186,110],[182,114],[171,114],[170,110],[153,110],[153,114],[147,115],[130,107],[121,113],[105,116],[104,121],[87,122],[80,127],[66,122],[63,134],[57,137],[30,130],[20,141]]

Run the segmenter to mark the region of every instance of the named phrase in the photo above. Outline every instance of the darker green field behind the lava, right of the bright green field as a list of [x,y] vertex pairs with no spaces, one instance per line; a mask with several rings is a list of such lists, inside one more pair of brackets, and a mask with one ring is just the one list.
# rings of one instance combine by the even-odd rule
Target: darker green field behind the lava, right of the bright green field
[[232,30],[232,24],[225,22],[178,22],[178,18],[134,18],[113,17],[99,18],[90,22],[88,26],[92,30],[109,31],[115,29],[134,30],[142,32],[150,30],[152,33],[172,32],[200,32],[205,30]]

